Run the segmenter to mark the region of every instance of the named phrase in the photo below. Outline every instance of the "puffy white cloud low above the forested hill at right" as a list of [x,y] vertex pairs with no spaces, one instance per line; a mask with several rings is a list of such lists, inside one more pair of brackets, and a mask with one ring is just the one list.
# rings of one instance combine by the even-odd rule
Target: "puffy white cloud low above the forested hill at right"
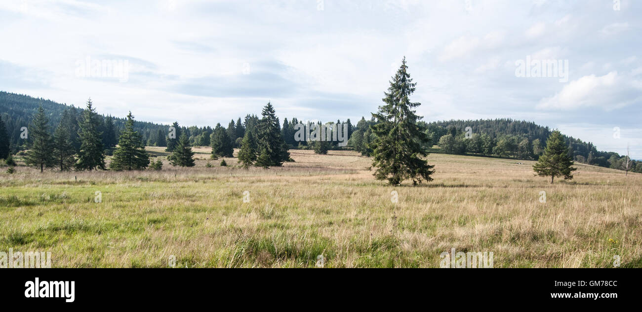
[[562,90],[542,99],[540,110],[578,110],[598,107],[611,111],[634,103],[641,103],[641,85],[629,78],[609,72],[604,76],[584,76],[571,81]]

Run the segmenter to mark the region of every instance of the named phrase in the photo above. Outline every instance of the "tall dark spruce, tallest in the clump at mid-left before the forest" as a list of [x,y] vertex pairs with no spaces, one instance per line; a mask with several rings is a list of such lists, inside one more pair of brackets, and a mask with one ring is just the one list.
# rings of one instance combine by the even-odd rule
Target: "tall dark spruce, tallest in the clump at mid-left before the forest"
[[[281,126],[272,103],[268,102],[261,112],[263,118],[257,124],[257,143],[259,151],[268,156],[268,167],[280,167],[290,158],[288,147],[281,137]],[[261,155],[259,154],[259,160]],[[262,166],[265,167],[265,166]]]

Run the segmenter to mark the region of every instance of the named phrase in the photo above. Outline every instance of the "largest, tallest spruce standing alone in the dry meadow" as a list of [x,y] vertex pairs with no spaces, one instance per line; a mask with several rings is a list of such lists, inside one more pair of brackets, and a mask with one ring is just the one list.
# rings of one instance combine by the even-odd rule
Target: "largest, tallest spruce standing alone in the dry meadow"
[[374,176],[379,180],[388,180],[391,185],[400,185],[405,179],[412,179],[413,185],[423,180],[429,182],[433,180],[431,175],[435,172],[435,166],[428,165],[422,159],[428,156],[422,145],[429,138],[417,124],[422,117],[415,114],[414,108],[421,103],[410,102],[416,83],[412,82],[407,69],[404,57],[385,93],[385,104],[372,114],[379,121],[371,127],[376,136],[370,143],[374,156],[372,166],[377,168]]

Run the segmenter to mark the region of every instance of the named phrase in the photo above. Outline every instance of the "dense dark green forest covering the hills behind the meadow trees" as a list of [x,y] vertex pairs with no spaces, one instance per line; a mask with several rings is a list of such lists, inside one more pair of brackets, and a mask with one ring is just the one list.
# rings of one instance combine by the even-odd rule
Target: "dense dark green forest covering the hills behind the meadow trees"
[[[53,135],[57,125],[65,124],[71,133],[74,149],[78,151],[80,141],[77,132],[82,121],[84,111],[82,108],[28,95],[0,92],[0,120],[6,128],[8,145],[12,154],[29,148],[28,140],[21,140],[21,129],[29,126],[40,106],[44,109],[45,117],[51,125],[48,128],[49,133]],[[101,133],[101,143],[105,154],[110,155],[114,151],[128,119],[98,114],[96,116],[96,129],[98,133]],[[185,135],[187,143],[191,146],[220,144],[220,142],[212,142],[212,139],[216,137],[217,140],[229,140],[232,148],[240,148],[246,131],[258,122],[259,117],[248,114],[243,118],[238,117],[236,120],[230,120],[227,127],[220,124],[214,127],[181,126],[178,122],[172,126],[177,131],[175,137]],[[295,140],[296,126],[301,123],[296,118],[290,120],[286,118],[282,124],[278,118],[274,122],[278,126],[277,130],[281,132],[281,140],[288,148],[314,149],[319,154],[325,154],[332,149],[354,149],[365,156],[370,156],[372,153],[370,145],[376,140],[376,135],[371,128],[377,124],[374,118],[365,119],[362,117],[356,125],[353,125],[350,119],[345,122],[337,120],[336,123],[326,123],[329,129],[333,129],[336,124],[347,125],[347,138],[349,138],[347,147],[342,147],[337,141],[306,142]],[[311,123],[308,122],[308,124]],[[318,122],[318,124],[321,123]],[[537,160],[552,132],[548,127],[539,126],[534,122],[512,119],[419,121],[417,124],[424,129],[429,138],[428,142],[422,144],[422,147],[431,152],[476,154],[524,160]],[[140,136],[141,142],[148,146],[167,147],[168,143],[171,145],[168,140],[168,128],[166,125],[152,122],[133,121],[133,130]],[[220,135],[221,131],[225,132],[224,138]],[[616,152],[598,151],[593,144],[577,138],[569,136],[563,136],[563,138],[569,147],[569,156],[575,161],[620,170],[628,168],[630,171],[642,173],[641,161],[627,162],[627,156],[620,156]],[[437,145],[438,149],[433,149],[434,145]],[[170,146],[168,151],[171,150],[173,148]]]

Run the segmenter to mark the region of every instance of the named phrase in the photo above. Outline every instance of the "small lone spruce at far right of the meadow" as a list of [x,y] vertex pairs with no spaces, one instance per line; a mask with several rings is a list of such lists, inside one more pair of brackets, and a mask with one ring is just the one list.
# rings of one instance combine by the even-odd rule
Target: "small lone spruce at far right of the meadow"
[[551,184],[555,177],[564,177],[565,180],[573,179],[571,173],[577,168],[573,166],[573,158],[569,156],[568,145],[564,144],[564,137],[560,131],[553,131],[546,140],[544,154],[539,156],[537,163],[533,165],[533,170],[537,176],[551,177]]

